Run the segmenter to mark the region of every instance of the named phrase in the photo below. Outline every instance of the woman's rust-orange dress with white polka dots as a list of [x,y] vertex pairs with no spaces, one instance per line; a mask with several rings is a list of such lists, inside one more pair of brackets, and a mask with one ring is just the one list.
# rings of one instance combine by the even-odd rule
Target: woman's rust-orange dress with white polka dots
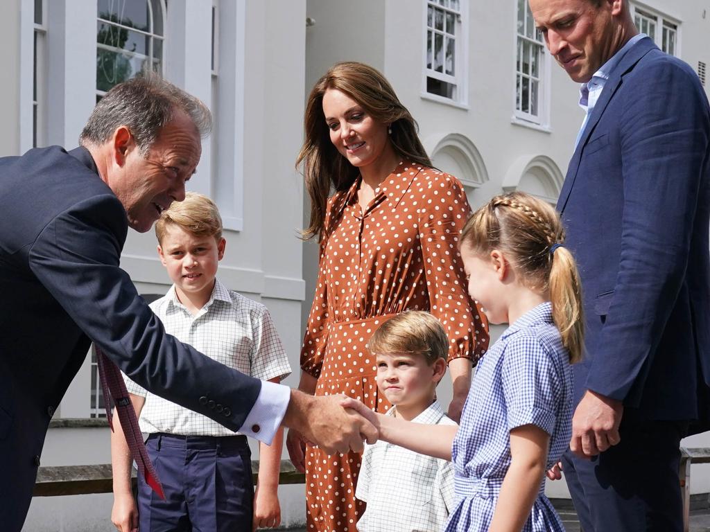
[[[488,348],[488,326],[466,293],[458,240],[471,209],[459,181],[402,162],[365,211],[359,185],[329,199],[301,368],[317,378],[316,395],[343,393],[383,412],[389,404],[366,348],[381,323],[430,311],[447,331],[449,360],[474,362]],[[365,509],[355,499],[360,458],[307,449],[307,531],[356,531]]]

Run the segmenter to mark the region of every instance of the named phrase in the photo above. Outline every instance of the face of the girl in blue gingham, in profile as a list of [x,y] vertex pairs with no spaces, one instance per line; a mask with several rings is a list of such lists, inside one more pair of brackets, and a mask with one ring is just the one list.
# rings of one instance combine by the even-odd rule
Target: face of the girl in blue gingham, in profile
[[469,282],[469,295],[481,304],[490,323],[508,323],[505,269],[510,267],[498,250],[481,256],[461,246],[461,259]]

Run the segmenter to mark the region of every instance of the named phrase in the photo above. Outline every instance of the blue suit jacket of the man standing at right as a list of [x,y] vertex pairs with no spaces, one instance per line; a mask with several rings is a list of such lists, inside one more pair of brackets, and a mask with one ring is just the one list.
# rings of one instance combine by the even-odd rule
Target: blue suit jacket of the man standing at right
[[692,420],[710,384],[710,111],[649,38],[607,80],[559,196],[581,274],[586,389],[643,419]]

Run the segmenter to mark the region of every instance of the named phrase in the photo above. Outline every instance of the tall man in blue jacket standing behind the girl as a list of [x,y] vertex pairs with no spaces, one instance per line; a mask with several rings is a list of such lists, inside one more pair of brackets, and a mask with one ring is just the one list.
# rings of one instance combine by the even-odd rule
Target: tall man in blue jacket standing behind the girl
[[707,419],[710,111],[628,0],[530,0],[586,110],[557,208],[586,352],[562,464],[585,532],[680,531],[679,440]]

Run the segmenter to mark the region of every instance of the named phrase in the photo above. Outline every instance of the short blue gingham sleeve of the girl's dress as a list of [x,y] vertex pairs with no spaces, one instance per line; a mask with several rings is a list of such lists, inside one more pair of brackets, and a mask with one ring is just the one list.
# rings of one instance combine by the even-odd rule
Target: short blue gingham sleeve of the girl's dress
[[552,357],[530,334],[510,337],[501,367],[508,430],[535,425],[548,434],[555,428],[555,390],[559,389]]

